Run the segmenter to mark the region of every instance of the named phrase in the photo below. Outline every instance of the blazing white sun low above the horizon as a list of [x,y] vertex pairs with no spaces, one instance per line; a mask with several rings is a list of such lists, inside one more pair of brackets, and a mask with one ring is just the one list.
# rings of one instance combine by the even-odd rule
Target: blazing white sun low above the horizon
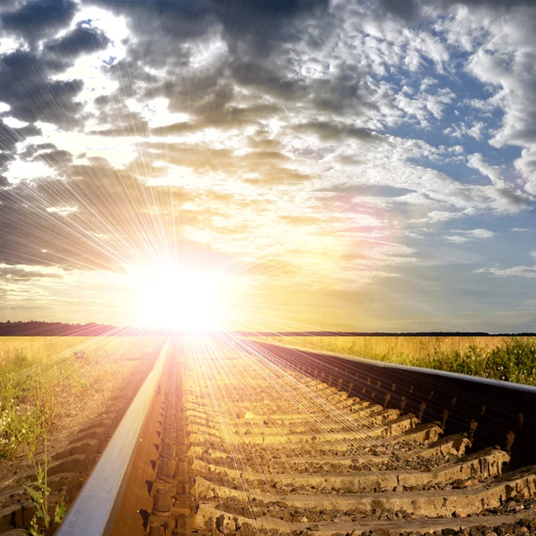
[[135,272],[136,325],[181,331],[222,328],[223,285],[218,272],[174,266]]

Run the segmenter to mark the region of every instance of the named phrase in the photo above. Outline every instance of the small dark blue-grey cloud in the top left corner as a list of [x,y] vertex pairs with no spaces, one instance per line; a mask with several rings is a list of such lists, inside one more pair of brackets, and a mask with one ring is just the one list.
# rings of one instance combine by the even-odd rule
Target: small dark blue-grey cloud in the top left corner
[[65,28],[77,9],[77,4],[71,0],[30,0],[20,9],[3,13],[0,24],[4,30],[33,43]]

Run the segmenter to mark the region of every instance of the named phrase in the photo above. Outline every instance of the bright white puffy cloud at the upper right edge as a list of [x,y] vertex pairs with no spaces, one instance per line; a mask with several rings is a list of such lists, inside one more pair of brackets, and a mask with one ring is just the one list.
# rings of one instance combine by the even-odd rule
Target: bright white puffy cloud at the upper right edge
[[489,88],[492,96],[473,100],[484,103],[488,111],[499,109],[502,121],[493,132],[493,147],[522,147],[515,161],[523,176],[524,189],[536,193],[536,145],[533,128],[536,107],[536,78],[532,71],[536,38],[530,30],[536,21],[536,9],[529,2],[490,4],[504,7],[503,13],[492,10],[458,10],[451,19],[438,24],[446,30],[449,42],[464,46],[469,54],[465,70],[474,80]]

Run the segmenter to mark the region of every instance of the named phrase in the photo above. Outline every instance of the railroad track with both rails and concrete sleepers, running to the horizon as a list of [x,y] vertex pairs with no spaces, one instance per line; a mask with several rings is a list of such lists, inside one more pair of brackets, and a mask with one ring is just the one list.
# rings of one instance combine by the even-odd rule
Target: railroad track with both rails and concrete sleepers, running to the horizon
[[523,386],[173,339],[57,533],[536,534],[534,402]]

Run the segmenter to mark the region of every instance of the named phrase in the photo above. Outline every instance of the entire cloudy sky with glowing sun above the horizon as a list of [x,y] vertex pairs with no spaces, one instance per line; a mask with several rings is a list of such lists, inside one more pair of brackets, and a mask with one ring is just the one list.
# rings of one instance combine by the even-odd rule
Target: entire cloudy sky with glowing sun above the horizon
[[535,27],[521,0],[0,3],[0,321],[535,331]]

